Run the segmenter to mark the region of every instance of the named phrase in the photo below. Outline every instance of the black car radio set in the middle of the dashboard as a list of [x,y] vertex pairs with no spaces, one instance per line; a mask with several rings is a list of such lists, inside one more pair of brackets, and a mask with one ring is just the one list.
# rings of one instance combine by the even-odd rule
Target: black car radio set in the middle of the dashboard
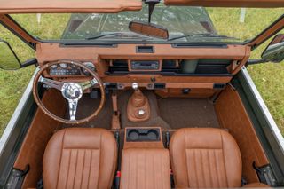
[[159,71],[160,63],[159,60],[133,60],[130,61],[130,67],[132,71]]

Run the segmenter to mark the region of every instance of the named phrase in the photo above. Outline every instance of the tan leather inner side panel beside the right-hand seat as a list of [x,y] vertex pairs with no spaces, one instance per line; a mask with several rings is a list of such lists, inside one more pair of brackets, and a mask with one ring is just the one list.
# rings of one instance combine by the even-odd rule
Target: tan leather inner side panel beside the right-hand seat
[[238,143],[241,151],[242,177],[248,183],[258,182],[256,170],[251,165],[256,162],[257,167],[263,167],[269,164],[269,160],[238,91],[232,87],[222,91],[215,104],[215,110],[220,127],[230,130]]

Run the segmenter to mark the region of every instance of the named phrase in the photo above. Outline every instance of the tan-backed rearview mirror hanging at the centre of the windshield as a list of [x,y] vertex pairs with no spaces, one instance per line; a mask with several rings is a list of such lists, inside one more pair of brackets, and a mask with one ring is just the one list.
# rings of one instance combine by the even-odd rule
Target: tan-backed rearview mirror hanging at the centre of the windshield
[[131,21],[129,28],[130,28],[130,31],[138,33],[138,34],[154,36],[154,37],[162,38],[162,39],[169,38],[168,29],[162,28],[152,23]]

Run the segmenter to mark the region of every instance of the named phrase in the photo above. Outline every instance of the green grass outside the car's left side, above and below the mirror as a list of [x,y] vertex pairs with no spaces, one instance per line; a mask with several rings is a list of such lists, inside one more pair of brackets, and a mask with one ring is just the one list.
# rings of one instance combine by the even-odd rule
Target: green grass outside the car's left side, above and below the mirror
[[[35,51],[16,35],[0,24],[0,38],[11,44],[20,61],[35,57]],[[20,97],[35,71],[35,67],[26,67],[17,71],[0,69],[0,136],[9,122]]]

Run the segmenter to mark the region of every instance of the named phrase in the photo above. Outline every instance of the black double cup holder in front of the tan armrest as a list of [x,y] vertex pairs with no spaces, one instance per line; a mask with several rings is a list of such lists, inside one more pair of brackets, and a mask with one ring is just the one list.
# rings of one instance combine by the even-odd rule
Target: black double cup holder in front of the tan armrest
[[160,141],[160,128],[126,129],[127,142]]

